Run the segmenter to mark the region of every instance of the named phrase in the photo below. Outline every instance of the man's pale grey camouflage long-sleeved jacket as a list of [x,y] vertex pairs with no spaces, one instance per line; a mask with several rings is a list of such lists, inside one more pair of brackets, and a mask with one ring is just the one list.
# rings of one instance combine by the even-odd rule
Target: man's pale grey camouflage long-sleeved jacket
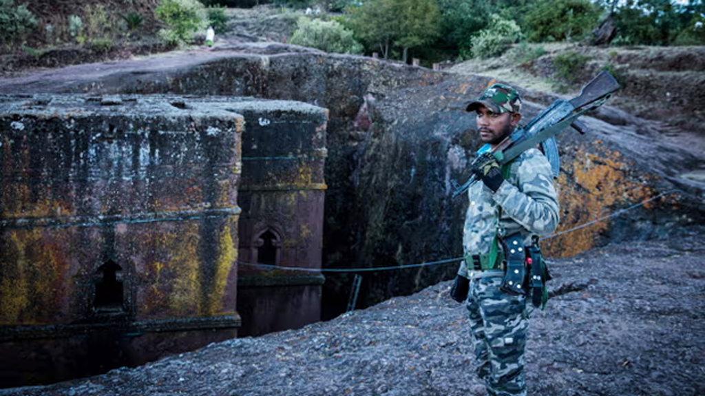
[[[465,256],[489,253],[496,233],[507,236],[520,232],[528,246],[532,235],[551,234],[558,226],[558,197],[544,154],[528,149],[509,166],[507,180],[494,194],[482,181],[467,191],[470,204],[462,237]],[[465,261],[460,263],[458,275],[468,277]]]

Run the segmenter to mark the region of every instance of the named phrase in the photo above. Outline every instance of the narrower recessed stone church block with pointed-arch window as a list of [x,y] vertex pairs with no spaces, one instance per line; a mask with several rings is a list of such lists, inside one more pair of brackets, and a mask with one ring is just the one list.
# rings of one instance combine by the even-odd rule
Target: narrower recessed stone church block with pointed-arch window
[[324,277],[283,267],[321,268],[328,111],[291,101],[243,101],[235,110],[246,124],[238,192],[240,335],[300,328],[321,318]]

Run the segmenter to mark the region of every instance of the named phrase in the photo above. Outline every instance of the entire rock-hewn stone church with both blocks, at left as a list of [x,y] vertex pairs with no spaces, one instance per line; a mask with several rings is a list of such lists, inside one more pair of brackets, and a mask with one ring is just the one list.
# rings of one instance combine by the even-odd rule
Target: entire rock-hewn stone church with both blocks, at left
[[0,385],[319,321],[327,122],[242,97],[0,97]]

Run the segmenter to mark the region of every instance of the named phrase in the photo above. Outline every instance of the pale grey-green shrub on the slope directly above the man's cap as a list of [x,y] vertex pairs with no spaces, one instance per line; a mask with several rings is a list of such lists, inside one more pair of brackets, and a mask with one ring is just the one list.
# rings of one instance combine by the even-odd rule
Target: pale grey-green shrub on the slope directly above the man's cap
[[472,55],[476,58],[500,56],[522,37],[517,23],[492,14],[488,27],[472,39]]

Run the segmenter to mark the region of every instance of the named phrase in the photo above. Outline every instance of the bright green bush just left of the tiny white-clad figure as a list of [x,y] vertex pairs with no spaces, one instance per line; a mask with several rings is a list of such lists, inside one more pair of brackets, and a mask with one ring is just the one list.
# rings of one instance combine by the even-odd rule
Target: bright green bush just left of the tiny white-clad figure
[[154,16],[167,26],[159,31],[161,38],[178,46],[192,42],[196,32],[206,30],[208,21],[206,8],[197,0],[161,0]]

